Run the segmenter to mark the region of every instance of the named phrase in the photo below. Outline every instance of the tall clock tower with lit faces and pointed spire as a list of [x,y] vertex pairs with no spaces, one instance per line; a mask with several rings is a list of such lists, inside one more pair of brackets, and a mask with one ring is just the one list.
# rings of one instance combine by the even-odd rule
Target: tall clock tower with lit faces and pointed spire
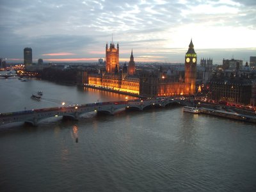
[[185,56],[185,90],[186,95],[194,95],[196,88],[196,52],[191,39]]

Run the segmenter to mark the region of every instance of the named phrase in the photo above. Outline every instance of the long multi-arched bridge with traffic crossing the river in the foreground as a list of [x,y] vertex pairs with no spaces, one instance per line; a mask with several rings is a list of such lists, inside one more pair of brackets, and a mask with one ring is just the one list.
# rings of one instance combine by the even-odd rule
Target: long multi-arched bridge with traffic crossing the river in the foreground
[[134,100],[121,100],[113,102],[95,102],[90,104],[81,104],[72,107],[61,107],[61,108],[43,108],[33,109],[26,111],[17,111],[12,113],[0,113],[0,125],[10,124],[13,122],[28,122],[32,125],[38,125],[41,120],[50,118],[53,116],[63,116],[79,119],[79,116],[84,113],[96,111],[97,113],[107,113],[114,115],[117,111],[122,109],[135,109],[143,111],[148,106],[162,106],[165,107],[168,104],[174,102],[182,102],[180,98],[172,97],[157,97],[155,99],[134,99]]

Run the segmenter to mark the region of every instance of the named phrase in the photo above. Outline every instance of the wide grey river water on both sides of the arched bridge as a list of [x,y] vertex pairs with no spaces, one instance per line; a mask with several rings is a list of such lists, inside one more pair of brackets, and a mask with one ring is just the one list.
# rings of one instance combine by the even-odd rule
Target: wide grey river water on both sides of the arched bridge
[[[30,98],[42,90],[42,100]],[[0,113],[125,100],[38,79],[0,79]],[[135,97],[128,96],[129,99]],[[255,191],[256,126],[181,106],[0,126],[1,191]]]

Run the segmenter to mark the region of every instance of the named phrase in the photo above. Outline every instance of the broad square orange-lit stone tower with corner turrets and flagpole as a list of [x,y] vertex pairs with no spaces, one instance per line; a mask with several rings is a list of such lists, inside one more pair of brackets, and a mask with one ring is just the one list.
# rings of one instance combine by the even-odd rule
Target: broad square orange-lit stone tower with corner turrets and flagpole
[[119,70],[119,45],[115,48],[113,42],[106,44],[106,72],[115,73],[116,68]]

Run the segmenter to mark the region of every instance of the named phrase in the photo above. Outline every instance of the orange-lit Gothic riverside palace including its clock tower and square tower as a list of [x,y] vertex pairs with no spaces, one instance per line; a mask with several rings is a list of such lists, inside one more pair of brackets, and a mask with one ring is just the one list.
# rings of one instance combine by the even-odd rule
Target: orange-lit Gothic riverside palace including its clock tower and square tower
[[164,97],[175,95],[194,95],[196,86],[196,52],[191,40],[185,54],[184,77],[169,76],[160,67],[158,70],[136,70],[131,51],[128,66],[119,65],[119,44],[106,44],[106,65],[97,73],[79,70],[77,82],[81,85],[137,95],[140,97]]

